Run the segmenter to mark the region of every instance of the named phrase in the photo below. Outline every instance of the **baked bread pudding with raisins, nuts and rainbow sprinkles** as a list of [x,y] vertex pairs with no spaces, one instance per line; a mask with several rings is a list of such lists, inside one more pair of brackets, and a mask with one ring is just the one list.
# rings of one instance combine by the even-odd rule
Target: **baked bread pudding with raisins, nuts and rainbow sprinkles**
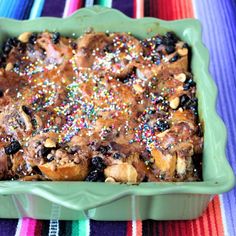
[[0,57],[0,178],[201,180],[190,49],[172,33],[25,32]]

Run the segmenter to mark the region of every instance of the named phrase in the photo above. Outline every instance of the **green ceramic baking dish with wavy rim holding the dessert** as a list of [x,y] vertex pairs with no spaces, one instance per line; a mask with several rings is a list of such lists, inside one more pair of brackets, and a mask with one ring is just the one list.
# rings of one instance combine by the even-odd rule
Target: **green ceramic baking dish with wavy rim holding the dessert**
[[0,19],[0,44],[25,31],[60,31],[78,36],[94,31],[131,32],[139,38],[174,31],[192,48],[191,68],[197,82],[200,119],[204,123],[203,181],[142,183],[0,182],[0,217],[37,219],[193,219],[213,195],[229,191],[235,177],[226,156],[226,129],[216,114],[216,86],[208,73],[209,55],[197,20],[130,19],[108,8],[86,8],[66,19]]

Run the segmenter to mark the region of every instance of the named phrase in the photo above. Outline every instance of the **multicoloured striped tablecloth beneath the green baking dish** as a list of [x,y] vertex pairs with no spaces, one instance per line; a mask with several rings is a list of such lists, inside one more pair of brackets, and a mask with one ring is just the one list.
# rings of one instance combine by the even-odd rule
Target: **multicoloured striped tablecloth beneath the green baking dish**
[[[66,17],[93,4],[117,8],[130,17],[165,20],[199,19],[210,51],[210,72],[219,88],[217,110],[228,128],[227,156],[236,171],[236,1],[235,0],[0,0],[0,16],[28,19]],[[1,203],[0,203],[1,204]],[[0,235],[222,236],[236,235],[236,189],[216,196],[197,220],[191,221],[42,221],[0,220]]]

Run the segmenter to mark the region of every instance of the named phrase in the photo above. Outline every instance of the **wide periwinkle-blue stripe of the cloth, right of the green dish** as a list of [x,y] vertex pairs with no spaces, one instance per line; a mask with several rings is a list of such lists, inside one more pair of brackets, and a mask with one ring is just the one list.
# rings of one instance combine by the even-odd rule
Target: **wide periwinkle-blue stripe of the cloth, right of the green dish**
[[[210,72],[219,89],[217,110],[228,130],[227,157],[236,172],[236,2],[195,0],[195,9],[210,51]],[[236,235],[235,188],[223,194],[223,204],[229,235]]]

